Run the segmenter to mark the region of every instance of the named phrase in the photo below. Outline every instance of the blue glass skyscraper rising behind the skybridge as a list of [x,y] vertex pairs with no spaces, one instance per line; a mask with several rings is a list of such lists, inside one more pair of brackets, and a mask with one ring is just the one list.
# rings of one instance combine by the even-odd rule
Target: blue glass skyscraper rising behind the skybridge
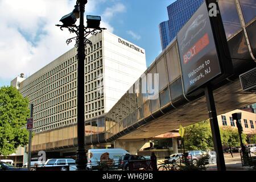
[[175,38],[204,0],[177,0],[167,7],[169,20],[159,24],[162,49]]

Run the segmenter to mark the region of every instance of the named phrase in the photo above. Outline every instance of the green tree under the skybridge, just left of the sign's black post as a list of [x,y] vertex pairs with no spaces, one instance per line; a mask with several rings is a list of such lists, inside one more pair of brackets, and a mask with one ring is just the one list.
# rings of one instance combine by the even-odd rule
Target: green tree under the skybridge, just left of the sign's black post
[[185,150],[209,150],[213,148],[209,121],[185,127],[184,145]]

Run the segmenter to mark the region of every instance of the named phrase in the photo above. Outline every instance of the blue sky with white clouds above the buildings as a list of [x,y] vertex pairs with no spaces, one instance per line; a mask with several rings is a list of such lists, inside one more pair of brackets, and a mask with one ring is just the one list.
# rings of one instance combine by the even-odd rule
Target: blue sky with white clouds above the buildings
[[[100,15],[101,27],[144,48],[148,66],[162,50],[158,25],[168,20],[167,6],[174,1],[88,0],[85,15]],[[32,75],[75,46],[65,44],[72,37],[68,30],[55,26],[75,4],[76,0],[0,0],[0,86],[10,85],[20,73]]]

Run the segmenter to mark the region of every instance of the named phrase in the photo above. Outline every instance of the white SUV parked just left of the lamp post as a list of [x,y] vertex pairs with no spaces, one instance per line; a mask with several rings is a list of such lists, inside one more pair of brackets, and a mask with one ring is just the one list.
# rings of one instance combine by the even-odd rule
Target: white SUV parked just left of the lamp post
[[69,171],[76,171],[76,161],[74,159],[48,159],[43,167],[67,166]]

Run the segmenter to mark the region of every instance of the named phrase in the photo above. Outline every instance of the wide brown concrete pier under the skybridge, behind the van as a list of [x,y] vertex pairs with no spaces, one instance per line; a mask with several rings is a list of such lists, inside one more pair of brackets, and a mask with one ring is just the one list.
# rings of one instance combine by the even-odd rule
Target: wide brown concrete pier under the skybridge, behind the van
[[114,148],[123,148],[133,155],[137,155],[139,150],[147,147],[150,147],[150,142],[147,139],[114,141]]

